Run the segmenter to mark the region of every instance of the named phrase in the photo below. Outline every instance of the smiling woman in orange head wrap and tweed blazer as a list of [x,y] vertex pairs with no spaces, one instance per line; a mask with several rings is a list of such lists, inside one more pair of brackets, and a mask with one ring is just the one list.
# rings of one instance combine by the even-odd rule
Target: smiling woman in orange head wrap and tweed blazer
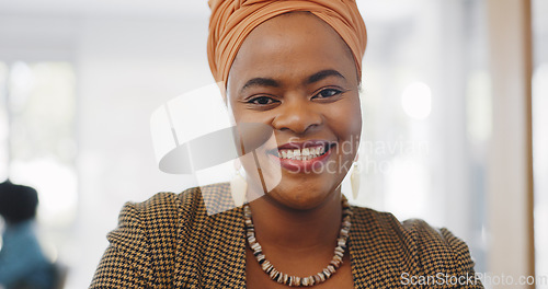
[[[236,124],[267,125],[276,139],[242,158],[256,171],[243,194],[265,194],[213,216],[199,188],[126,205],[91,288],[481,288],[463,278],[473,263],[447,230],[350,207],[341,194],[362,128],[366,33],[355,2],[209,5],[209,63]],[[279,183],[265,189],[276,170]],[[210,185],[207,198],[229,207],[240,194],[230,189]]]

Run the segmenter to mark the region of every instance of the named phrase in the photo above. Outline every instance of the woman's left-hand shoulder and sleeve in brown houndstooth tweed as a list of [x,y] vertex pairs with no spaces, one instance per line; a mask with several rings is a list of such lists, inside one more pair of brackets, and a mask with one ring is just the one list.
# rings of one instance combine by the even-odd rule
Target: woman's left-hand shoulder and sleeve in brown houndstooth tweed
[[212,218],[203,193],[224,193],[226,187],[228,184],[192,187],[179,194],[158,193],[141,203],[126,203],[117,228],[107,235],[110,245],[90,288],[163,288],[172,284],[176,268],[173,259],[184,262],[187,256],[180,251],[197,247],[208,231]]

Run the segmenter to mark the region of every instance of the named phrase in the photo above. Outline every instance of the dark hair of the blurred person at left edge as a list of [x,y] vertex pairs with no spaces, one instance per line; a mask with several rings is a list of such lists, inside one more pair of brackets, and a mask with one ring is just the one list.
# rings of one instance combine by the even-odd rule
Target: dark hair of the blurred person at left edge
[[36,189],[12,184],[0,184],[0,216],[10,223],[19,223],[36,217],[38,194]]

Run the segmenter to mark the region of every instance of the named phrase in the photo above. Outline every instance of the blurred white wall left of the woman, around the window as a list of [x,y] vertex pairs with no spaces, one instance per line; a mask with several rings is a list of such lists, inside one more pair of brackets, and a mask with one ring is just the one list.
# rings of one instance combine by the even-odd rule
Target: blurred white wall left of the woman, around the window
[[67,288],[89,286],[125,201],[193,185],[157,169],[149,127],[163,102],[213,83],[205,49],[209,11],[205,1],[191,4],[180,18],[146,10],[121,18],[0,3],[0,61],[76,67],[79,208],[69,242],[58,248],[69,266]]

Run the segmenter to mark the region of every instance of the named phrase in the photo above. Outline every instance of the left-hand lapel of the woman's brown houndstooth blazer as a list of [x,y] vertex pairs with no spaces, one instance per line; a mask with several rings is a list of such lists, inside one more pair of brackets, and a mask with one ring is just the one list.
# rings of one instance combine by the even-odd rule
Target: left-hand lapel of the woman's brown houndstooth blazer
[[[209,216],[204,198],[218,206]],[[175,288],[246,288],[243,209],[235,208],[229,184],[196,189],[182,206],[175,252]]]

